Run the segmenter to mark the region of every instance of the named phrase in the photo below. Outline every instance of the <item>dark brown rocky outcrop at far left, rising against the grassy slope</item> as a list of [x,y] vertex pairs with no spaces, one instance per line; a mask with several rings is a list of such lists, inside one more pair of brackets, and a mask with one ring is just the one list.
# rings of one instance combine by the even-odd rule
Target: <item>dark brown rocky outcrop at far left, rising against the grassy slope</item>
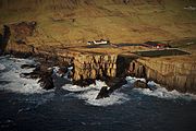
[[35,48],[26,44],[26,38],[33,36],[36,29],[36,22],[21,22],[4,25],[1,40],[3,51],[15,55],[29,56]]

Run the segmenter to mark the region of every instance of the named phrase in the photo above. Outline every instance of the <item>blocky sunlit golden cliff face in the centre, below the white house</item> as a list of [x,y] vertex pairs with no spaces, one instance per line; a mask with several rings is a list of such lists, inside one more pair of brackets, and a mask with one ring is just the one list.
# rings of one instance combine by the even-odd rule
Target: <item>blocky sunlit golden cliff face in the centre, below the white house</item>
[[114,78],[115,55],[79,55],[74,59],[75,81],[86,79]]

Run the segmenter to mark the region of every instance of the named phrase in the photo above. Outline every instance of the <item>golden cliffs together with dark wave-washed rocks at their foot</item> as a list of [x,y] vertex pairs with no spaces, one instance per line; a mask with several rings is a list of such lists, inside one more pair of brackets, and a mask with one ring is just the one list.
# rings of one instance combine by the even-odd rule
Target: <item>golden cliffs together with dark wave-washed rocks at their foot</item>
[[[25,40],[26,37],[34,35],[36,24],[36,22],[23,22],[4,26],[1,35],[1,53],[38,58],[41,66],[36,67],[33,73],[23,74],[23,76],[39,78],[40,85],[46,90],[54,86],[51,78],[52,70],[48,70],[48,68],[59,66],[73,67],[71,74],[73,84],[86,86],[94,83],[95,80],[106,81],[110,90],[103,87],[101,91],[107,94],[102,97],[109,96],[125,84],[126,75],[144,78],[147,82],[158,82],[170,91],[196,94],[196,67],[194,63],[171,63],[134,53],[86,53],[69,49],[52,49],[47,46],[46,49],[36,48],[27,45]],[[136,86],[148,88],[142,82],[138,82]]]

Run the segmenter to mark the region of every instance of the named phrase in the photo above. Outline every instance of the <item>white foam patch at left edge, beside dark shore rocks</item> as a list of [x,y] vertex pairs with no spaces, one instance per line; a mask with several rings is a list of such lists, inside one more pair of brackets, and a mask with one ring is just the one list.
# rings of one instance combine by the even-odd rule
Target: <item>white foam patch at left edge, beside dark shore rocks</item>
[[9,69],[9,71],[3,72],[0,76],[1,80],[8,81],[9,84],[4,84],[0,86],[2,91],[11,91],[16,93],[44,93],[47,92],[42,90],[37,83],[38,80],[32,79],[22,79],[20,76],[21,73],[29,73],[34,69],[21,69],[22,64],[30,64],[34,63],[34,60],[29,59],[17,59],[17,58],[4,58],[0,60],[3,62],[4,67]]

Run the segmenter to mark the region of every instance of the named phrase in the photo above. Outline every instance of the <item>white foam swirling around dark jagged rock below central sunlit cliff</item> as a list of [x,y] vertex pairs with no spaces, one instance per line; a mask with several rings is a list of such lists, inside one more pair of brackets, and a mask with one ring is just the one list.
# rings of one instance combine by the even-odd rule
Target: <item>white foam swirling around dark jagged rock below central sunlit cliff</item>
[[126,94],[120,93],[118,91],[112,93],[110,97],[96,99],[102,86],[107,86],[105,82],[96,81],[96,84],[91,84],[87,87],[66,84],[63,86],[63,88],[71,92],[81,92],[79,94],[75,94],[75,97],[84,99],[87,104],[94,106],[109,106],[114,104],[122,104],[128,100]]

